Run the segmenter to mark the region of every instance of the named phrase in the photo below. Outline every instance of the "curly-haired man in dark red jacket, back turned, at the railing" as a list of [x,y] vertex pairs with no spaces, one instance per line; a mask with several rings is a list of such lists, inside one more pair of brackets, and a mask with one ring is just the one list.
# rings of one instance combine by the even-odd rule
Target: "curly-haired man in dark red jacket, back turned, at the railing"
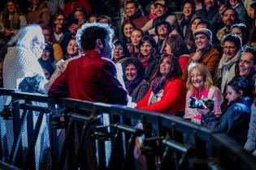
[[104,23],[85,23],[77,32],[77,43],[85,51],[68,63],[51,85],[51,97],[70,97],[108,104],[127,104],[127,91],[117,79],[111,62],[113,30]]

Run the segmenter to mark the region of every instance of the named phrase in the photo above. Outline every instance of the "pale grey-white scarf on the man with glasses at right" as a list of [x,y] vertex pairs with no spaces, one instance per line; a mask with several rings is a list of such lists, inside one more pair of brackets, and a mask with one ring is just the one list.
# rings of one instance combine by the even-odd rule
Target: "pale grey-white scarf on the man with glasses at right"
[[236,56],[233,57],[231,60],[228,60],[225,53],[223,53],[223,57],[221,57],[219,61],[219,66],[216,74],[218,79],[222,79],[220,89],[222,93],[225,90],[226,84],[230,82],[233,77],[235,77],[236,62],[239,60],[240,57],[241,49],[236,53]]

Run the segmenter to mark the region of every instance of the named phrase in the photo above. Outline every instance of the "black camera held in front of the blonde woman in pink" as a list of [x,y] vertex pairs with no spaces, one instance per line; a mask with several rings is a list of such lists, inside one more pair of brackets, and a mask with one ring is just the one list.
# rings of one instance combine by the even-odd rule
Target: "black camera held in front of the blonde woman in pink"
[[215,108],[215,102],[214,100],[198,100],[196,97],[190,97],[190,106],[189,108],[199,108],[203,109],[203,104],[206,105],[207,108],[210,109],[210,111],[213,111]]

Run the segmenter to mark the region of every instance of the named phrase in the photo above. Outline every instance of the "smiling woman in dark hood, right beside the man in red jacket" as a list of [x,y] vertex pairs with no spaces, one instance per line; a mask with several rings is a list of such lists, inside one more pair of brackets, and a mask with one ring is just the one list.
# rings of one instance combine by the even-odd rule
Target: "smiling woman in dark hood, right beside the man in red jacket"
[[122,62],[124,68],[124,84],[128,91],[128,95],[132,97],[132,102],[137,103],[148,91],[150,84],[145,81],[145,70],[134,57],[128,57]]

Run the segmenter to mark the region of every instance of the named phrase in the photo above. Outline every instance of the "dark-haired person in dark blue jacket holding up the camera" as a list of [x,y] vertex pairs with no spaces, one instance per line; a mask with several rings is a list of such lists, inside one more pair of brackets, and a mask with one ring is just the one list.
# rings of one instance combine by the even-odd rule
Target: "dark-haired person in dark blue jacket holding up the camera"
[[233,79],[228,83],[227,96],[228,108],[223,110],[220,117],[210,112],[209,108],[204,106],[202,113],[202,124],[207,125],[212,130],[219,130],[228,134],[236,142],[244,145],[249,130],[249,117],[251,99],[249,98],[247,81],[242,79]]

